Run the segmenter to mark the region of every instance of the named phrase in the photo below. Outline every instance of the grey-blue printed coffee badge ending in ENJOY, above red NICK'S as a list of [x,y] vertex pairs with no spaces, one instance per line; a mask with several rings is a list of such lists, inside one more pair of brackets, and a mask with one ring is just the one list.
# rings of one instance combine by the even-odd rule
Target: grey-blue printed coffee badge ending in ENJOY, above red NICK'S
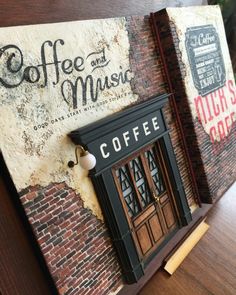
[[213,25],[187,28],[185,46],[193,82],[201,96],[224,86],[225,65],[220,40]]

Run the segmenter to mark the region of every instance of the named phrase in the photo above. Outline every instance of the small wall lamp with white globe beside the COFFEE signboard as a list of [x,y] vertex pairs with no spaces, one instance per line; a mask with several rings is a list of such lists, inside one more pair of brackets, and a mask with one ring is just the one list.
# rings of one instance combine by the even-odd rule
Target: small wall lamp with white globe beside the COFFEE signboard
[[[80,159],[78,158],[78,155]],[[73,168],[75,165],[80,163],[80,166],[85,170],[91,170],[96,165],[96,158],[94,157],[94,155],[90,154],[88,151],[85,151],[85,149],[81,145],[77,145],[75,148],[75,158],[76,162],[68,162],[68,166],[70,168]]]

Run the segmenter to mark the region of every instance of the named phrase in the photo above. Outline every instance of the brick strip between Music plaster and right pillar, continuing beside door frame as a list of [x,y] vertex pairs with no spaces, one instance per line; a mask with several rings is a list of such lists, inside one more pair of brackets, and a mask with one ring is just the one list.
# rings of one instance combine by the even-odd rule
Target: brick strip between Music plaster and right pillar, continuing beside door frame
[[[134,73],[133,91],[140,100],[168,93],[169,89],[163,71],[158,45],[156,44],[150,17],[129,17],[128,34],[130,41],[130,64]],[[195,194],[176,115],[170,103],[165,107],[165,118],[177,159],[189,205],[195,203]]]

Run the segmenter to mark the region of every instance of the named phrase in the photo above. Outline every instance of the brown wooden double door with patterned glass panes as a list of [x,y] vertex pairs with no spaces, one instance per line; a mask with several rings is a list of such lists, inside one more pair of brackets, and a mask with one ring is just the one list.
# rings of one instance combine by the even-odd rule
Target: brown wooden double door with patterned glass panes
[[115,166],[113,175],[136,247],[145,259],[178,228],[159,143],[123,160]]

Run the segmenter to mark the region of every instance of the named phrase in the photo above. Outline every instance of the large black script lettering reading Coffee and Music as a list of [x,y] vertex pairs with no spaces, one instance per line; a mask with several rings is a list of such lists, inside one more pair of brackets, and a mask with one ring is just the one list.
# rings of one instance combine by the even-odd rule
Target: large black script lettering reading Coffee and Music
[[[25,65],[24,57],[19,47],[7,45],[0,48],[0,59],[5,62],[5,68],[0,73],[0,83],[6,88],[16,88],[23,82],[36,84],[40,83],[41,88],[48,87],[50,84],[56,86],[59,82],[63,100],[73,109],[79,105],[85,106],[88,103],[96,102],[99,94],[113,87],[130,83],[132,72],[130,69],[112,73],[111,75],[94,77],[93,72],[97,68],[106,67],[110,60],[106,58],[105,48],[100,52],[92,52],[86,59],[93,58],[88,64],[93,66],[90,74],[83,75],[85,70],[85,60],[81,56],[73,59],[61,59],[58,52],[64,46],[62,39],[55,41],[46,40],[40,48],[41,62],[37,65]],[[99,57],[98,54],[102,54]],[[87,61],[88,62],[88,61]],[[50,71],[49,71],[50,70]],[[49,75],[50,72],[50,75]],[[67,78],[61,81],[62,74],[70,75],[77,72],[75,78]]]

